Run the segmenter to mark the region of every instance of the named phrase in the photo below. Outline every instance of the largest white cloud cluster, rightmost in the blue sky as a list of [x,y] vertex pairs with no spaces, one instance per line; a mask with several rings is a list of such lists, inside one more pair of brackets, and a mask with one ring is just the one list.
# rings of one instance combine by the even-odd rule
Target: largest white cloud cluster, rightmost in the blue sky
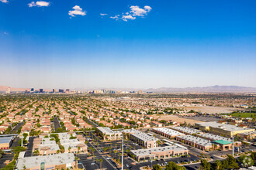
[[144,6],[144,8],[140,8],[137,5],[132,5],[130,6],[130,11],[123,13],[122,15],[114,15],[114,16],[110,16],[111,19],[122,19],[123,21],[128,21],[130,20],[134,20],[136,19],[136,17],[144,17],[145,15],[147,15],[148,12],[150,12],[152,10],[152,8],[150,6]]

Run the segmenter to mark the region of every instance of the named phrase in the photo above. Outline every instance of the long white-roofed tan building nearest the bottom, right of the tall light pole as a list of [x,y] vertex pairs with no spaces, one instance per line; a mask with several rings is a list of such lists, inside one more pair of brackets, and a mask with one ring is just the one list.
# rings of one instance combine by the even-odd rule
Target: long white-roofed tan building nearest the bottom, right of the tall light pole
[[147,149],[138,149],[131,150],[130,154],[137,161],[148,161],[161,158],[171,158],[174,156],[188,155],[189,150],[185,147],[179,146],[166,146],[166,147],[157,147],[157,148],[147,148]]

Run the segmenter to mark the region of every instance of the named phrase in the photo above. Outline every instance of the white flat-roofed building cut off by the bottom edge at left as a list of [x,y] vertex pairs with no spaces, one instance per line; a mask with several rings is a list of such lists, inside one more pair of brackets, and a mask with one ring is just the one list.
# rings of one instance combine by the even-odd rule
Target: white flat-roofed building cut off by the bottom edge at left
[[23,170],[24,167],[29,170],[75,168],[75,160],[71,153],[18,158],[16,168]]

